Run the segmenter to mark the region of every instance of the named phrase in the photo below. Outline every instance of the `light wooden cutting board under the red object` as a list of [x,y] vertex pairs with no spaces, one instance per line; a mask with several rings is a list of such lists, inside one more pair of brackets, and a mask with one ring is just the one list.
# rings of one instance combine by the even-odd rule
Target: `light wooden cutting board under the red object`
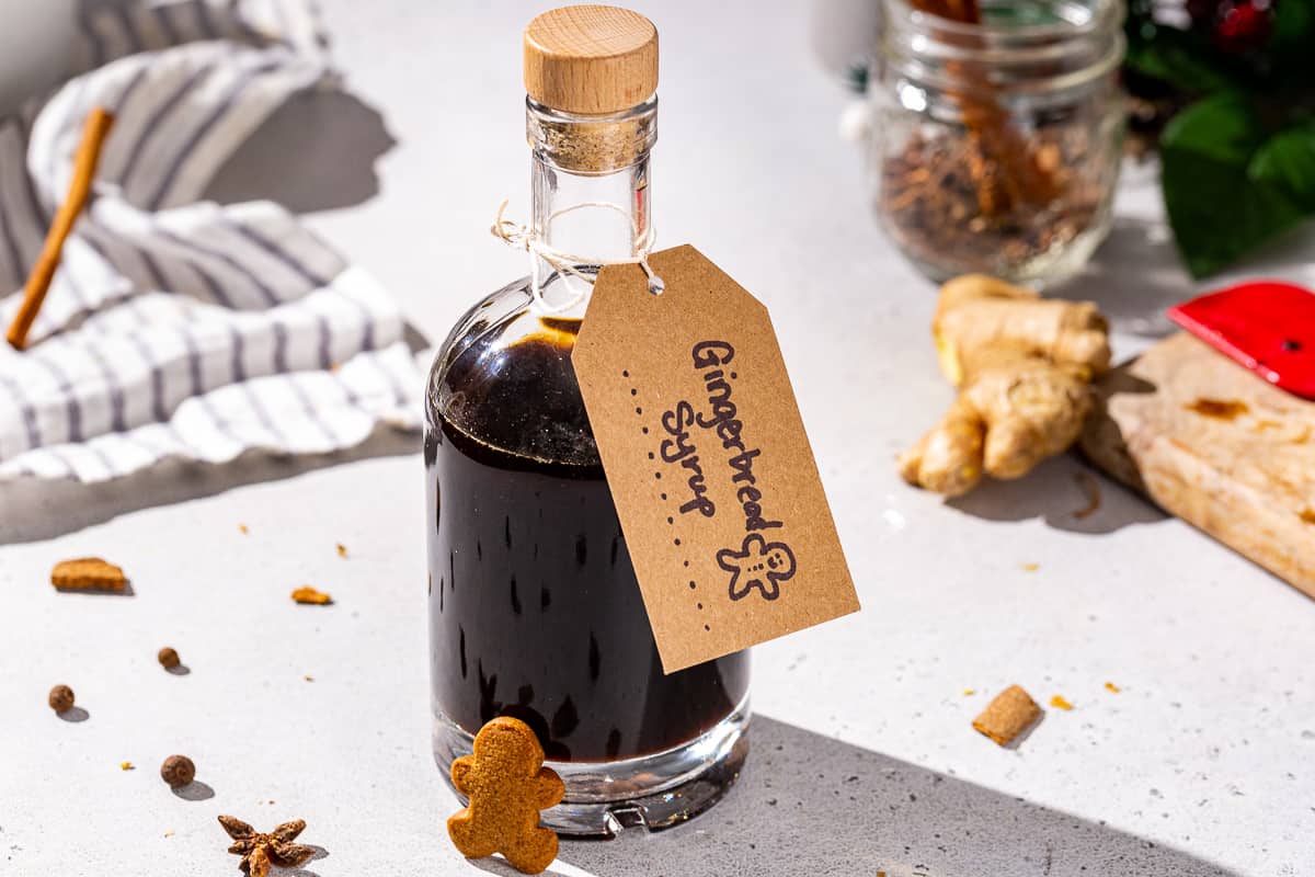
[[1315,402],[1187,333],[1097,392],[1081,439],[1091,462],[1315,597]]

